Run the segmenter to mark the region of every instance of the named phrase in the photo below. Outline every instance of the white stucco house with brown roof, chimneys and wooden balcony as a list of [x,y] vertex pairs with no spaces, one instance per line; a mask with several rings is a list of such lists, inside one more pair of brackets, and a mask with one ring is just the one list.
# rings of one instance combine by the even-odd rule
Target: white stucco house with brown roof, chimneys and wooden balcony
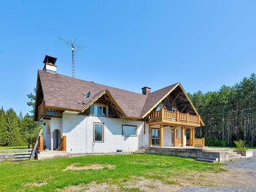
[[203,146],[203,126],[181,84],[142,93],[56,73],[57,58],[46,55],[38,70],[34,118],[44,121],[39,151],[70,154],[135,152],[144,146]]

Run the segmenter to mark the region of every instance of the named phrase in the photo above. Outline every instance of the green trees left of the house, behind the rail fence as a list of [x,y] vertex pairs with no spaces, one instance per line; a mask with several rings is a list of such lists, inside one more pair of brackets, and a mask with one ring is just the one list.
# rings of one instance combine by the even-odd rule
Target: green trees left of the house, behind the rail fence
[[[35,90],[34,90],[35,91]],[[27,95],[30,99],[27,104],[32,106],[31,114],[34,114],[35,95]],[[19,115],[10,108],[7,111],[3,106],[0,109],[0,146],[18,146],[25,143],[30,144],[34,137],[37,137],[41,129],[41,124],[34,121],[34,116],[28,113],[24,116],[22,112]]]

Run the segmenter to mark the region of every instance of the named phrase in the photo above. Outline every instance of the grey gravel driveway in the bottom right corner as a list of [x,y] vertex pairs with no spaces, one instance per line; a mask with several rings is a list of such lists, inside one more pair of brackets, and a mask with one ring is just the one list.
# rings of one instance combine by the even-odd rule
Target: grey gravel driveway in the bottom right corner
[[[236,162],[228,162],[227,165],[224,165],[223,168],[239,168],[244,169],[246,172],[249,172],[251,177],[249,180],[255,180],[256,178],[256,150],[253,150],[253,157],[248,159],[241,159]],[[239,174],[239,173],[238,173]],[[200,191],[256,191],[256,183],[250,186],[223,186],[223,187],[182,187],[180,192],[200,192]]]

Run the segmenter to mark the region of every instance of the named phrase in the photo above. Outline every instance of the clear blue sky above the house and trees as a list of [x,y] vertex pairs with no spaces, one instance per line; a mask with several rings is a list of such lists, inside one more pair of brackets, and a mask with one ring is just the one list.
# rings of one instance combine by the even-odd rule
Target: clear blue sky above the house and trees
[[[0,1],[0,105],[29,112],[45,55],[76,78],[141,93],[232,86],[255,72],[256,1]],[[81,90],[82,93],[82,90]],[[65,94],[65,93],[63,93]]]

